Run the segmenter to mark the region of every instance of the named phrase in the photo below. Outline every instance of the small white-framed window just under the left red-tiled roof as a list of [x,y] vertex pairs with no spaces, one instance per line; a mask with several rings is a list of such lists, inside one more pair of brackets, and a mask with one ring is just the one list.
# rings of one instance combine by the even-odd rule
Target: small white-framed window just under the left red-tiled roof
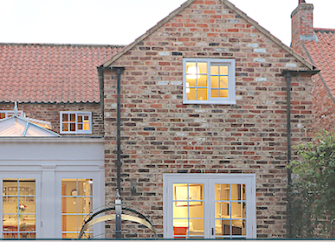
[[61,134],[92,134],[91,112],[60,112]]

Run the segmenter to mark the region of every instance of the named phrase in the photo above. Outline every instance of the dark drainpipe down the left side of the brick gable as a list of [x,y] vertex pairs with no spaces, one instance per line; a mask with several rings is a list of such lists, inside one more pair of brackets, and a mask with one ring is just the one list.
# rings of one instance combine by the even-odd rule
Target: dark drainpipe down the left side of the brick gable
[[117,190],[121,195],[121,74],[124,71],[124,67],[113,67],[112,70],[116,71],[117,75]]

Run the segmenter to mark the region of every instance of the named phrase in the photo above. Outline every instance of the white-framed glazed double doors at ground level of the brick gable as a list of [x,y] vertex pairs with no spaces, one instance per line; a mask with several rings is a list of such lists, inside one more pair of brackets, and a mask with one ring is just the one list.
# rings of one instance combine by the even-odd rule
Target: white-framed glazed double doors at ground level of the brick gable
[[164,174],[164,238],[256,238],[254,174]]

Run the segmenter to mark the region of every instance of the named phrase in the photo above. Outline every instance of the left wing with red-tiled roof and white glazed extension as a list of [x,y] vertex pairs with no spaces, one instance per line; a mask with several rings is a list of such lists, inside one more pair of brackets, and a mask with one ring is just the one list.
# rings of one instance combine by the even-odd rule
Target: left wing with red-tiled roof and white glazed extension
[[0,44],[1,238],[76,238],[105,203],[96,67],[119,50]]

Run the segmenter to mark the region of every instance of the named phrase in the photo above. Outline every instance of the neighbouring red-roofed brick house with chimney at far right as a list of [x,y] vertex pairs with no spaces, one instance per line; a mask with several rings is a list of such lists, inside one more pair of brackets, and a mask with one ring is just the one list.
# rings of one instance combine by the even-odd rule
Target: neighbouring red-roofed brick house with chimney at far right
[[320,71],[313,76],[313,126],[335,131],[335,89],[333,53],[335,29],[314,28],[313,4],[299,1],[292,12],[292,48]]

